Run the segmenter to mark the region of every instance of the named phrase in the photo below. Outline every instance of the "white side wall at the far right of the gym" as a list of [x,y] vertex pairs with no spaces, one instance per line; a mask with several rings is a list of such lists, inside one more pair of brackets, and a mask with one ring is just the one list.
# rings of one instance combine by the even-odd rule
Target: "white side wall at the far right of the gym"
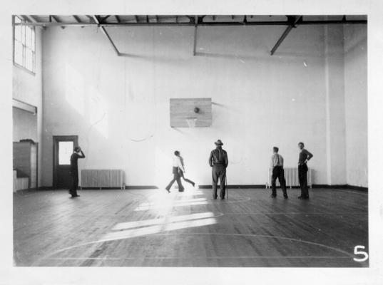
[[347,184],[368,187],[367,26],[344,27]]

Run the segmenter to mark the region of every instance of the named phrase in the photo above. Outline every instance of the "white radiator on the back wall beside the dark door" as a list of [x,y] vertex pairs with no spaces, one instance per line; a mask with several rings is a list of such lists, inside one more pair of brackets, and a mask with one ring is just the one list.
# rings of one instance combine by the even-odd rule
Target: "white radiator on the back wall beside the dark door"
[[81,170],[81,188],[123,189],[123,170]]

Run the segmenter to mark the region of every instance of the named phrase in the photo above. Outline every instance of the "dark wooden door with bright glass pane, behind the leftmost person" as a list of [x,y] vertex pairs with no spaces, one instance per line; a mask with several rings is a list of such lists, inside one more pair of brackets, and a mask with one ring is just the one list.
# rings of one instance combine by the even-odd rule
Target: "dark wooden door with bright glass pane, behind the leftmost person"
[[53,187],[68,189],[71,186],[71,155],[78,145],[77,135],[53,136]]

